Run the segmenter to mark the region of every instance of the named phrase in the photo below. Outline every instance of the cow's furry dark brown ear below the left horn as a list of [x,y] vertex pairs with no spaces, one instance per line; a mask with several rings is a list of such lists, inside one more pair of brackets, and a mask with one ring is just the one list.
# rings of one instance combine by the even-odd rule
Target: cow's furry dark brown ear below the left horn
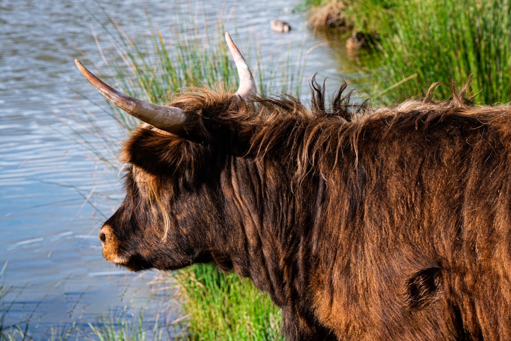
[[124,143],[121,160],[154,175],[177,176],[192,182],[210,155],[210,149],[201,143],[141,126]]

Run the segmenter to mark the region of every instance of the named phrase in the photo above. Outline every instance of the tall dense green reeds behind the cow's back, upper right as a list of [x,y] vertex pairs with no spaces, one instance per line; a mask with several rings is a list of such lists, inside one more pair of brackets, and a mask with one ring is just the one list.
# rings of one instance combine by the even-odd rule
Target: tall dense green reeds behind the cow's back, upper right
[[[409,0],[385,11],[381,55],[368,71],[377,100],[421,95],[434,82],[463,84],[471,74],[478,101],[511,99],[509,0]],[[450,95],[447,87],[437,93]]]

